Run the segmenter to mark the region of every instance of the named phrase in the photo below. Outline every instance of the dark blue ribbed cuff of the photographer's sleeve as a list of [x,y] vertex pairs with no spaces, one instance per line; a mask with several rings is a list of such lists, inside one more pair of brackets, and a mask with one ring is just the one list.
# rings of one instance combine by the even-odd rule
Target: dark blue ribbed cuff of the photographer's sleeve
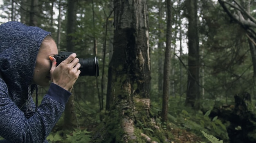
[[70,98],[71,94],[72,93],[63,89],[62,87],[60,87],[54,83],[51,83],[49,90],[48,90],[47,94],[45,95],[45,97],[51,98],[51,99],[65,105],[67,103],[68,99]]

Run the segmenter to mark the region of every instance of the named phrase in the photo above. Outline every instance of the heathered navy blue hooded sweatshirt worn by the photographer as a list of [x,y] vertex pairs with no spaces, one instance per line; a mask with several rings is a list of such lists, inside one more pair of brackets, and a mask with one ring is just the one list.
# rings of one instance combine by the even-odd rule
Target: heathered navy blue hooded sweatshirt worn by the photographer
[[37,109],[31,100],[36,56],[50,34],[20,22],[0,26],[0,136],[7,143],[47,143],[71,95],[52,83]]

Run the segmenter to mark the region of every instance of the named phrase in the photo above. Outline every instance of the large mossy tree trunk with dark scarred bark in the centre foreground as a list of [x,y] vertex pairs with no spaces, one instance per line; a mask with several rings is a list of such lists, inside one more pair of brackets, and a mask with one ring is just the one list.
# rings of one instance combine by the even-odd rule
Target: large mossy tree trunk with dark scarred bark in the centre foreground
[[108,73],[111,103],[104,123],[91,142],[146,143],[146,138],[160,141],[149,112],[150,51],[146,0],[114,0],[114,26],[114,52]]

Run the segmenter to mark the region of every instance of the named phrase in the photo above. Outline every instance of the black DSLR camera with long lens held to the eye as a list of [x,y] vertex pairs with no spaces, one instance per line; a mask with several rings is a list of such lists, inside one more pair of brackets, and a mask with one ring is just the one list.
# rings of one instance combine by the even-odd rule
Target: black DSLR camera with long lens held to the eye
[[[56,54],[54,58],[56,58],[57,60],[57,66],[72,53],[73,52],[61,51]],[[93,58],[85,59],[79,58],[79,63],[81,64],[81,67],[79,68],[81,73],[79,74],[79,76],[99,76],[99,61],[96,56],[94,56]]]

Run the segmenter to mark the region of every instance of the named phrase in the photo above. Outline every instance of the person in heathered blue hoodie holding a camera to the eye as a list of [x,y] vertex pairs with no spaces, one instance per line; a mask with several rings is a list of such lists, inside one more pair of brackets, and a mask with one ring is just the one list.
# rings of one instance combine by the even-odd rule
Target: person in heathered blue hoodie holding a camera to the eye
[[[57,67],[55,54],[50,32],[20,22],[0,26],[0,143],[47,143],[81,72],[76,54]],[[37,85],[49,85],[40,106],[31,97]]]

